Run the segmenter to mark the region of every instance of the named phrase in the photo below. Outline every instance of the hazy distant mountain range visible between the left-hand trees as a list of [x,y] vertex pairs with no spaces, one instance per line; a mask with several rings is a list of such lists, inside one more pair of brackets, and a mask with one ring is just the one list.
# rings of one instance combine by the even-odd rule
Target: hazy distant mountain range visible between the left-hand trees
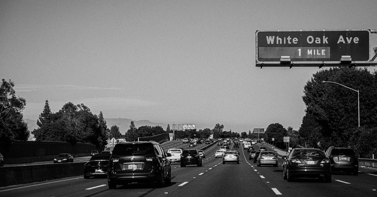
[[[30,132],[32,132],[34,129],[38,128],[37,120],[30,120],[30,119],[23,119],[23,120],[24,120],[24,122],[28,123],[28,129],[29,129]],[[131,120],[131,119],[107,119],[107,118],[105,118],[105,120],[106,120],[107,128],[110,129],[111,126],[116,125],[116,126],[119,127],[119,131],[121,132],[121,134],[125,134],[126,131],[130,128],[131,121],[133,121],[136,128],[139,128],[140,126],[145,126],[145,125],[161,126],[162,129],[164,129],[164,130],[166,130],[166,128],[167,128],[167,125],[165,125],[165,124],[153,123],[153,122],[150,122],[149,120],[135,121],[135,120]],[[30,139],[32,139],[33,137],[34,137],[34,135],[31,134]]]

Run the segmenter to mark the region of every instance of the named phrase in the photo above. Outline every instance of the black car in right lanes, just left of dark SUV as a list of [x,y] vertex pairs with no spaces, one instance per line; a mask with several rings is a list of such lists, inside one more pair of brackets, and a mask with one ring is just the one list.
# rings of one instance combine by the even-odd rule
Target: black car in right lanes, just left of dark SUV
[[283,177],[288,182],[297,177],[319,178],[331,182],[331,163],[320,149],[294,148],[282,159]]

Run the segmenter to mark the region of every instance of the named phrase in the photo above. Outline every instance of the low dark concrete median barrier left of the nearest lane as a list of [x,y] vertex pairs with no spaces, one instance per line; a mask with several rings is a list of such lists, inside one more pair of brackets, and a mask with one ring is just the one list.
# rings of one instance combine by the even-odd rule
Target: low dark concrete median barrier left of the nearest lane
[[0,187],[83,175],[85,163],[3,166],[0,168]]

